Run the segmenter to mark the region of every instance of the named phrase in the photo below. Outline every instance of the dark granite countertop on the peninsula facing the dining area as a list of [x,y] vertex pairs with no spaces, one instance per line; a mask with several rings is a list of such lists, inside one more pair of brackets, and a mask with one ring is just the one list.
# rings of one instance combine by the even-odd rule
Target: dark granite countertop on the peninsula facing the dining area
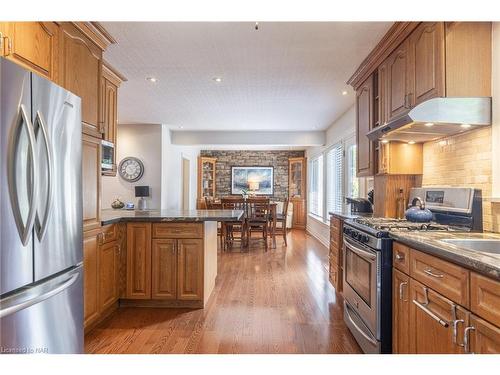
[[113,210],[101,211],[102,225],[120,221],[162,221],[162,222],[193,222],[193,221],[236,221],[243,215],[241,210]]

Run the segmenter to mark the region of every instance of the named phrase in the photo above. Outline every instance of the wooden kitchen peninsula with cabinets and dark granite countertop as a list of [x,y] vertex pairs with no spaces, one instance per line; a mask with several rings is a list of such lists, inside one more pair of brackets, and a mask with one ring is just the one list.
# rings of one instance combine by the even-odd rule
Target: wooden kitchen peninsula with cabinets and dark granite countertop
[[103,210],[84,238],[86,331],[118,306],[204,308],[217,277],[217,222],[239,210]]

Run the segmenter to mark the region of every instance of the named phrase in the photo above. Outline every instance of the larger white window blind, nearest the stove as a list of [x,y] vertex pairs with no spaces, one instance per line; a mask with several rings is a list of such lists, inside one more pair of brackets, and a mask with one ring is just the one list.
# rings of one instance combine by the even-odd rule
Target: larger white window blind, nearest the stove
[[343,189],[344,149],[339,143],[326,153],[326,209],[341,211],[344,198]]

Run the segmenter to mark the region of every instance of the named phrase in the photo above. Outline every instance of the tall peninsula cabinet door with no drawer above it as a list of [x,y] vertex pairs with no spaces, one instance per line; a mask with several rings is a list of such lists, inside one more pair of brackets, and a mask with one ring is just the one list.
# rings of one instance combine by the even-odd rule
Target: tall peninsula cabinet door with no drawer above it
[[151,299],[151,223],[127,224],[128,299]]

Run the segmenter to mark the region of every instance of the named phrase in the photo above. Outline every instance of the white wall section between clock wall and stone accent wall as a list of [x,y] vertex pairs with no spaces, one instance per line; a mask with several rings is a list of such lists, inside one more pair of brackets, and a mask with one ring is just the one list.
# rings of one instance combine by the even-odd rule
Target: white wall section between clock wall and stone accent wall
[[182,158],[190,160],[190,209],[196,209],[198,146],[172,144],[168,126],[161,127],[161,208],[180,210],[182,208]]

